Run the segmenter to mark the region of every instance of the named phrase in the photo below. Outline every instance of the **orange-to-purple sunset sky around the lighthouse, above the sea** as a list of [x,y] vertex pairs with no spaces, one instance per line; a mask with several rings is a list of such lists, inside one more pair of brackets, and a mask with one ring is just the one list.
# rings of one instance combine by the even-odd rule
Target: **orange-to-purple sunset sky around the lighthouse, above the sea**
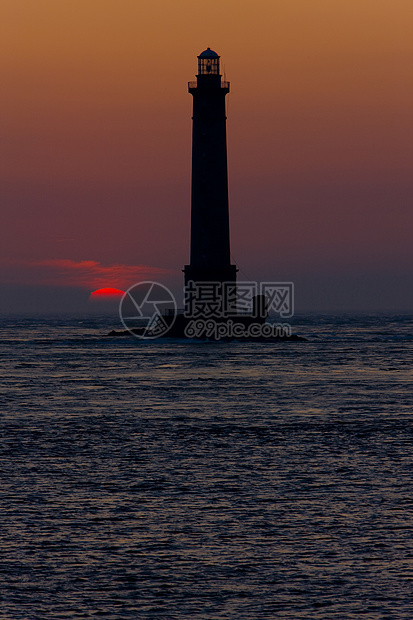
[[239,278],[300,311],[413,310],[411,0],[1,0],[3,312],[182,290],[192,97],[227,95]]

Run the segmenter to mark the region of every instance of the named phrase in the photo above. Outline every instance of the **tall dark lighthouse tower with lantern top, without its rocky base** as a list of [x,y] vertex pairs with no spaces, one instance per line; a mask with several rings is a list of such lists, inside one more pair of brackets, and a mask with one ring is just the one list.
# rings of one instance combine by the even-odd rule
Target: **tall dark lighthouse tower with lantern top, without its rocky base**
[[228,212],[225,96],[229,82],[219,73],[219,56],[209,47],[198,56],[193,96],[191,258],[185,265],[189,282],[234,282]]

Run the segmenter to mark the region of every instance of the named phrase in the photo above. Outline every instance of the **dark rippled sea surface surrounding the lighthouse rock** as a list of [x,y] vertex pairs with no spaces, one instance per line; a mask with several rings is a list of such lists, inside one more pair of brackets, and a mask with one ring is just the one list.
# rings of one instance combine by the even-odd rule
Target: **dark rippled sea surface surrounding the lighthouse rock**
[[412,315],[0,323],[0,618],[413,618]]

